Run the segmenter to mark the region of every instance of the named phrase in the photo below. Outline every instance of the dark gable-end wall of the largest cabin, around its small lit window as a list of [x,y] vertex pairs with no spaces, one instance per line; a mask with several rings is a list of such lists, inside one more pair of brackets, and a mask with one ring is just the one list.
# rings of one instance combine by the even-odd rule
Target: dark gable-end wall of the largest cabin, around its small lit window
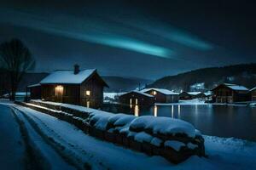
[[[86,95],[90,91],[90,95]],[[99,108],[103,103],[103,86],[98,77],[91,77],[88,81],[83,82],[80,88],[80,105]]]

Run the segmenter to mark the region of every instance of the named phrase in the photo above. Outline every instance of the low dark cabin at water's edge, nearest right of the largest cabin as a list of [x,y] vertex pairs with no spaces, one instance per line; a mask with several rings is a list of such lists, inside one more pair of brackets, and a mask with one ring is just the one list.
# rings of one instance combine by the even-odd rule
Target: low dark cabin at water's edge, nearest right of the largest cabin
[[119,102],[125,105],[154,105],[154,96],[134,90],[120,95]]

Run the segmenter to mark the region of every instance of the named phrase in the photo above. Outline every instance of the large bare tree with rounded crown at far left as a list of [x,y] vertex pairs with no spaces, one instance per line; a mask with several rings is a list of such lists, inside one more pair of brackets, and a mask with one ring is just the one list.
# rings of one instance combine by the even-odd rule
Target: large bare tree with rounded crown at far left
[[7,71],[10,82],[10,99],[15,100],[15,93],[21,78],[26,71],[34,68],[35,60],[30,50],[19,39],[12,39],[9,42],[0,44],[0,62]]

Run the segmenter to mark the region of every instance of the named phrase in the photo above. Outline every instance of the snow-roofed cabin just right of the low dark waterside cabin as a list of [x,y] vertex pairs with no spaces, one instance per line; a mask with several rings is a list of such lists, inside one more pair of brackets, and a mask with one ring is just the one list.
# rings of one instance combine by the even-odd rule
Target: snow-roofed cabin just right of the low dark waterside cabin
[[155,103],[177,103],[178,94],[163,88],[144,88],[141,92],[153,95]]

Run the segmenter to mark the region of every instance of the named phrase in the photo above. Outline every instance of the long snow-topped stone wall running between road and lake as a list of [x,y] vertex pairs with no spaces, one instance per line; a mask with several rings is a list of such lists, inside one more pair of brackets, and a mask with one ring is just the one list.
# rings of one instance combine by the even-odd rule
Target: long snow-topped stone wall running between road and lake
[[149,155],[164,156],[175,163],[192,155],[205,155],[204,139],[189,122],[170,117],[113,114],[41,100],[32,100],[32,104],[28,104],[32,107],[36,107],[35,105],[39,105],[36,108],[38,111],[71,122],[92,136]]

